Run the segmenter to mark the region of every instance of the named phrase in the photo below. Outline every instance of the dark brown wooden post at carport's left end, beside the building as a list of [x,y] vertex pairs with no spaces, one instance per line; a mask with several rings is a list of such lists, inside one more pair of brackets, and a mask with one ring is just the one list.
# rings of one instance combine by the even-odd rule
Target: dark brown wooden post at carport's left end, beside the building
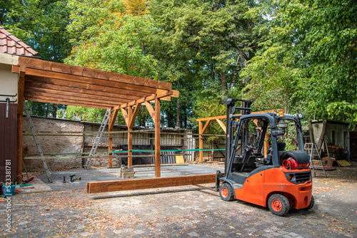
[[19,81],[17,85],[17,184],[22,183],[22,127],[24,112],[24,90],[25,90],[25,71],[26,67],[21,66],[19,72]]

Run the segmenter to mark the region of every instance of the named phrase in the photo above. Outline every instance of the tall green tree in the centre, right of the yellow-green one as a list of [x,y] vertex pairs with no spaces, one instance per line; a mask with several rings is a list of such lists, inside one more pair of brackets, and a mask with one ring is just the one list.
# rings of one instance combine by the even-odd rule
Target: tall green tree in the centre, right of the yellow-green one
[[254,6],[241,1],[151,1],[156,31],[147,48],[159,62],[159,80],[172,81],[180,90],[180,111],[187,98],[188,111],[198,113],[195,108],[201,107],[195,103],[201,99],[214,97],[210,101],[217,103],[241,87],[238,72],[254,56],[264,33]]

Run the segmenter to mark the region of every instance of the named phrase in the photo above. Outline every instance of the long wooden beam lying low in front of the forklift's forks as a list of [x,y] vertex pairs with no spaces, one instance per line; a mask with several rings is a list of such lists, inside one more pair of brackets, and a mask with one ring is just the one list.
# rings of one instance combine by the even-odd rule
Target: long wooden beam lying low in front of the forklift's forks
[[200,185],[216,182],[216,174],[153,177],[147,179],[87,182],[88,193],[144,190],[157,187]]

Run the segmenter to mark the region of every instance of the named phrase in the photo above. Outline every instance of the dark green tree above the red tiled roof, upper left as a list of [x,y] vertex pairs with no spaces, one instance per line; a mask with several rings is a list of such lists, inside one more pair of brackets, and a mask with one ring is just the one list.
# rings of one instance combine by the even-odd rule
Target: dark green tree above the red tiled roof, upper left
[[[66,0],[8,0],[0,2],[0,24],[31,46],[45,61],[62,63],[71,50],[66,26],[69,9]],[[66,105],[27,102],[31,113],[53,116]]]

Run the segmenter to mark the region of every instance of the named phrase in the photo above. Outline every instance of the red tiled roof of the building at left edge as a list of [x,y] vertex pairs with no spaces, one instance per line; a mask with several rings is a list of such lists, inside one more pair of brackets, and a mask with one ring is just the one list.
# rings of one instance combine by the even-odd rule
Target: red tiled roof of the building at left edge
[[30,46],[16,38],[0,26],[0,53],[11,53],[19,56],[39,56]]

